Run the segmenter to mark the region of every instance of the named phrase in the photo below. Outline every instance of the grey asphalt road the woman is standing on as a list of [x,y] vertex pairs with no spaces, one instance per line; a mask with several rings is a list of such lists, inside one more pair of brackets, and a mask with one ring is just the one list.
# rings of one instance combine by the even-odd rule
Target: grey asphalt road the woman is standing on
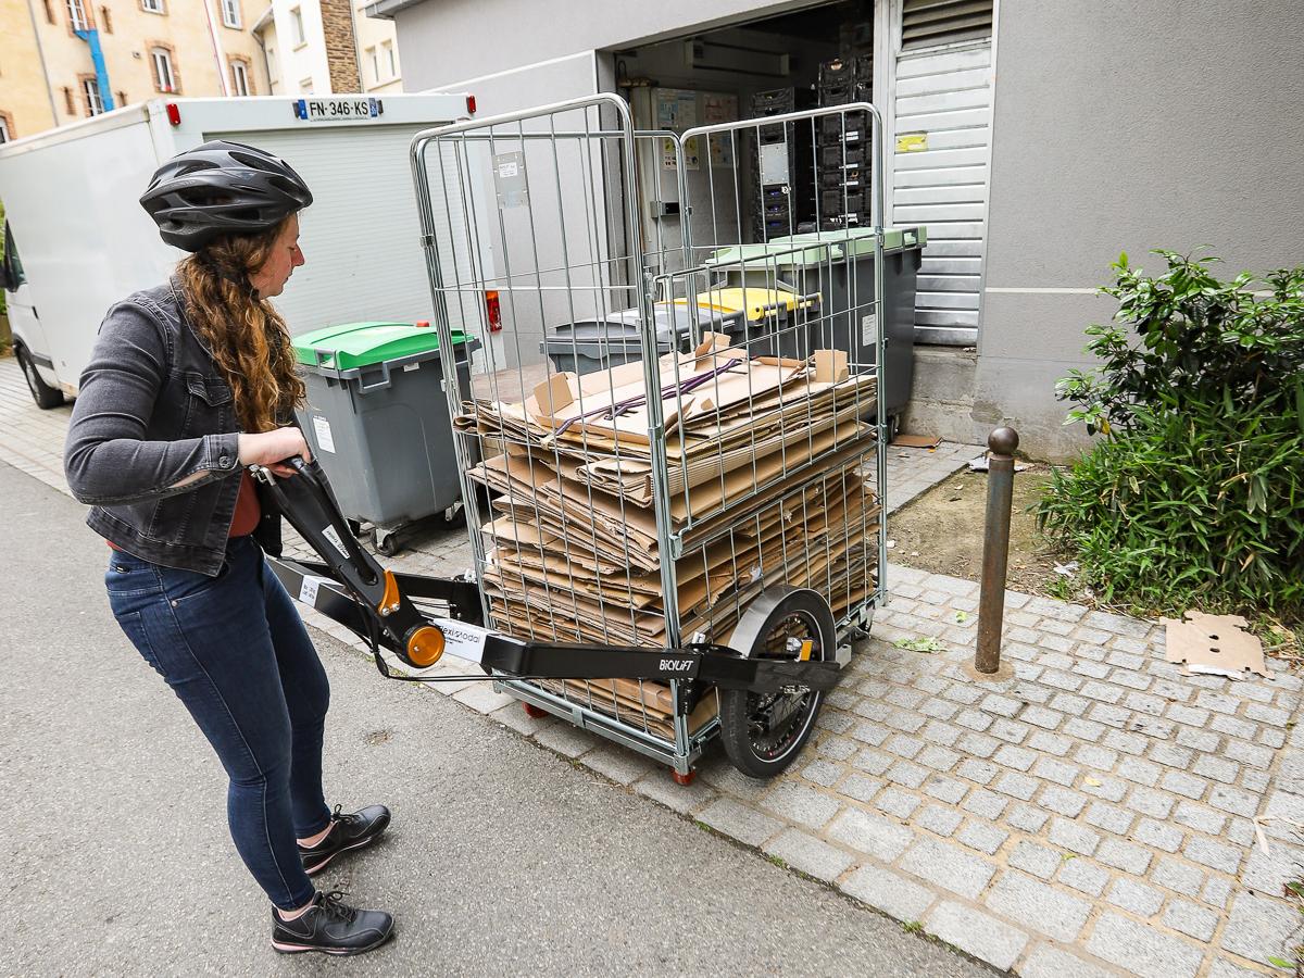
[[82,507],[0,463],[0,973],[990,975],[314,635],[327,798],[387,837],[318,878],[383,949],[282,957],[222,768],[128,644]]

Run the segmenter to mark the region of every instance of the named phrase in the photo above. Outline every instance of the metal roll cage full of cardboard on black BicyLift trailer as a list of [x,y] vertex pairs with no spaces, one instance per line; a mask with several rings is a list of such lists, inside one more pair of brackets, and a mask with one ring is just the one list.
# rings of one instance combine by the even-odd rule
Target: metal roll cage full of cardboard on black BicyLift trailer
[[[818,192],[814,235],[767,236],[776,177],[790,230],[808,230],[799,184],[819,188],[820,159],[798,136],[829,125],[872,146],[870,297],[833,295],[850,231]],[[295,477],[261,477],[322,562],[275,561],[282,582],[368,639],[382,673],[382,648],[422,670],[394,678],[490,679],[683,782],[717,735],[747,775],[786,768],[887,593],[882,154],[868,103],[675,136],[635,130],[600,94],[419,133],[445,377],[454,329],[485,338],[472,390],[445,386],[475,567],[382,569],[321,469],[296,462]],[[769,223],[742,244],[758,202]],[[636,322],[636,361],[554,370],[545,330],[582,321],[600,336]],[[872,363],[837,348],[848,331]],[[481,672],[451,675],[445,652]]]

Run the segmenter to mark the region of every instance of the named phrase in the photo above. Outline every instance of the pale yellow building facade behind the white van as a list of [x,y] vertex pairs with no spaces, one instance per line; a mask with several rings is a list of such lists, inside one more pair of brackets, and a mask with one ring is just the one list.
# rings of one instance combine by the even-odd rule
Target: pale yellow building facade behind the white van
[[[164,0],[163,13],[151,13],[140,0],[83,0],[89,26],[99,34],[115,104],[159,94],[228,94],[231,64],[237,60],[248,72],[250,94],[266,94],[267,74],[252,35],[256,0],[237,0],[239,27],[223,23],[218,4]],[[90,47],[73,34],[67,0],[31,0],[30,7],[27,0],[0,0],[0,111],[13,113],[18,136],[85,119],[90,107],[82,82],[94,78],[95,68]],[[159,85],[150,56],[154,48],[168,51],[172,59],[173,93]],[[38,52],[44,55],[44,67]]]

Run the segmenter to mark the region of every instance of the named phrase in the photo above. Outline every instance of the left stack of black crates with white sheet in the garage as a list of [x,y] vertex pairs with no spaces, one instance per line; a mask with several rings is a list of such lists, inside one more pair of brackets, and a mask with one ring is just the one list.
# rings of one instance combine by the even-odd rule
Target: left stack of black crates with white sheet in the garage
[[[773,89],[751,96],[752,119],[778,116],[811,108],[815,94],[808,89]],[[767,147],[782,146],[781,150]],[[771,153],[788,158],[786,180],[765,181],[762,158]],[[792,235],[815,220],[814,130],[810,120],[759,126],[752,158],[752,233],[756,241]],[[775,176],[773,172],[769,173]]]

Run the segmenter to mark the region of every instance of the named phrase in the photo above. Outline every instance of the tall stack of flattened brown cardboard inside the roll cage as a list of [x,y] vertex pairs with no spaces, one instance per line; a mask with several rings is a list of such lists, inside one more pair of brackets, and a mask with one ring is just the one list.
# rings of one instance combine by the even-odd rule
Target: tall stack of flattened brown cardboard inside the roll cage
[[[810,363],[748,359],[713,334],[659,365],[668,515],[683,553],[674,567],[681,635],[726,643],[747,604],[775,583],[819,591],[835,614],[863,601],[878,553],[879,510],[862,472],[874,377],[848,376],[841,352]],[[554,374],[523,403],[476,399],[456,419],[459,430],[506,447],[471,469],[497,494],[481,528],[494,627],[665,644],[645,394],[643,365],[631,363]],[[672,737],[661,683],[552,689]],[[703,698],[690,728],[715,704]]]

